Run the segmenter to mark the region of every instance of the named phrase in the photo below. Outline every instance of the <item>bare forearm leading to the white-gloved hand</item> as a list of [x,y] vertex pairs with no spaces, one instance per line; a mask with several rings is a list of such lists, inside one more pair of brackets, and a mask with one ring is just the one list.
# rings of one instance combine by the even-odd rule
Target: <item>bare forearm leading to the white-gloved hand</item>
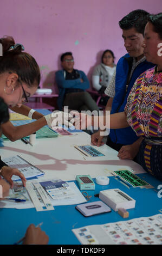
[[44,117],[34,121],[33,123],[14,126],[10,121],[2,125],[3,134],[14,142],[17,139],[29,136],[37,130],[41,129],[44,125],[47,125],[47,121]]

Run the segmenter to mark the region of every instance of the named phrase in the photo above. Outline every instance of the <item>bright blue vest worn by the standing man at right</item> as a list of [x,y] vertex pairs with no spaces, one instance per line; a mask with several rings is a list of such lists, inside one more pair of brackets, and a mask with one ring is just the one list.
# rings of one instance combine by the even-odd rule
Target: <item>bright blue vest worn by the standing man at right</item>
[[[150,69],[154,64],[147,62],[141,62],[133,71],[131,80],[127,83],[127,77],[129,70],[132,67],[133,58],[127,53],[121,57],[116,66],[116,77],[115,77],[115,97],[112,104],[111,114],[123,112],[127,103],[127,97],[131,91],[135,80],[147,69]],[[126,85],[128,89],[126,92]],[[125,93],[126,92],[126,93]],[[138,137],[131,127],[122,129],[111,129],[109,137],[112,142],[129,145],[137,141]]]

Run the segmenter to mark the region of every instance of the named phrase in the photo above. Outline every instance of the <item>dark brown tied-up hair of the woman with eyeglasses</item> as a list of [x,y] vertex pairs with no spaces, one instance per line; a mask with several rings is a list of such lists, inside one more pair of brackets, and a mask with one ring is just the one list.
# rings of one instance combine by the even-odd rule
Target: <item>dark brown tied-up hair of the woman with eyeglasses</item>
[[22,47],[18,46],[9,50],[15,45],[12,36],[6,36],[0,39],[3,48],[3,56],[0,57],[0,74],[3,72],[15,72],[21,82],[29,87],[40,84],[40,68],[36,60],[27,52],[22,52]]

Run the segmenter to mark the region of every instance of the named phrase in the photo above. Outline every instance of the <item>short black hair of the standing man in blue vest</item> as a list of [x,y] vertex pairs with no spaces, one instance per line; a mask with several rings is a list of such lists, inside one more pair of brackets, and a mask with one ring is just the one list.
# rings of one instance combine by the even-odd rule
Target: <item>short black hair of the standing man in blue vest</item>
[[121,29],[128,30],[135,28],[138,33],[144,34],[149,13],[145,10],[134,10],[119,21]]

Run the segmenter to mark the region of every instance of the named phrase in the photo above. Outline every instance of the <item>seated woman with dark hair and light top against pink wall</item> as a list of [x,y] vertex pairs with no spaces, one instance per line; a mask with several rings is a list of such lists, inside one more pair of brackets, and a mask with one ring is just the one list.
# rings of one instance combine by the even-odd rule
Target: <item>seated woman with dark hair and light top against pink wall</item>
[[[114,64],[114,53],[111,50],[103,52],[101,63],[94,68],[92,74],[92,85],[95,90],[103,94],[111,82],[116,65]],[[100,104],[106,106],[108,96],[102,97]]]

